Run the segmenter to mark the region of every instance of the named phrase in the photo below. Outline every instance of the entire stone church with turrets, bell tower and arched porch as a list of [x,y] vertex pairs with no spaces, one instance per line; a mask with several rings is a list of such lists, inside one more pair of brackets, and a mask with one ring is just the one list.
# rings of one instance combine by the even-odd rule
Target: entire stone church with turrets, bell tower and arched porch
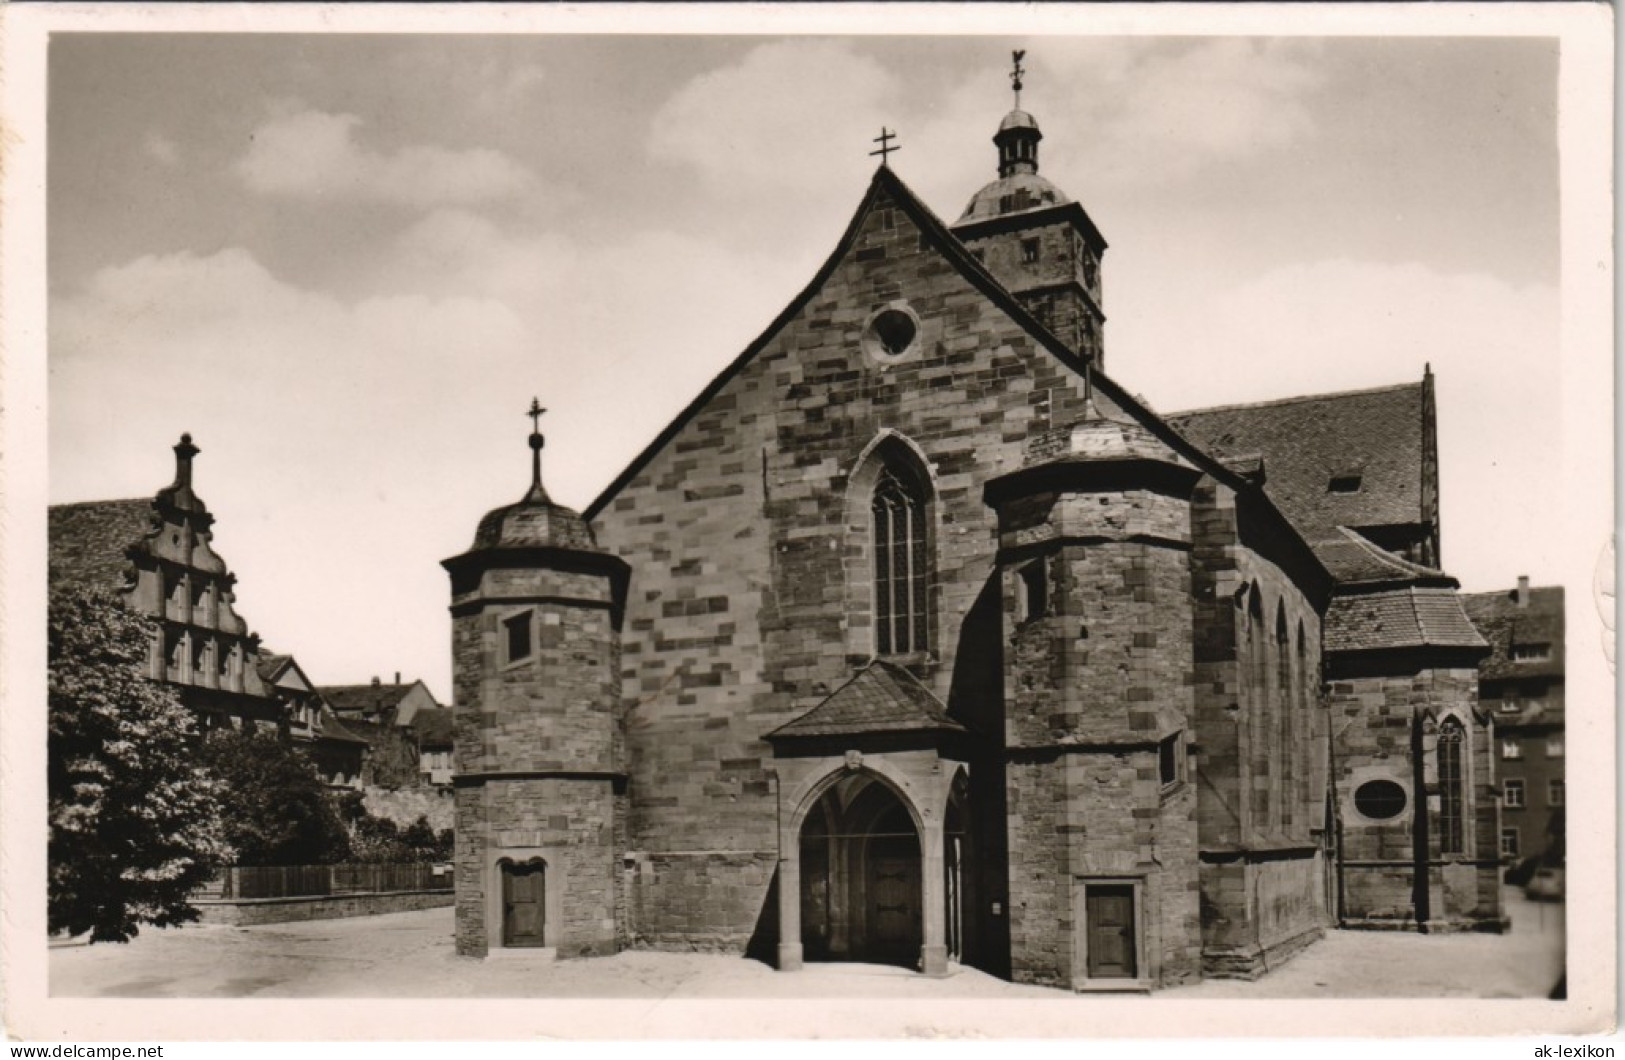
[[1316,467],[1268,416],[1157,416],[1102,371],[1107,244],[1038,140],[1004,119],[954,226],[882,164],[580,515],[533,434],[445,561],[458,953],[1095,990],[1500,927],[1430,380],[1316,398]]

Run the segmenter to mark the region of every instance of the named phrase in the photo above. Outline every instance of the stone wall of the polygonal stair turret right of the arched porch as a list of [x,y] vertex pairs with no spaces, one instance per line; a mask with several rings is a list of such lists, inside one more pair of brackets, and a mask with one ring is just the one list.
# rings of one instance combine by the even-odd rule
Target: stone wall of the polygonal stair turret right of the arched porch
[[[999,530],[1011,972],[1068,987],[1087,979],[1084,888],[1141,880],[1139,977],[1193,979],[1196,793],[1185,762],[1165,788],[1157,756],[1160,740],[1178,736],[1185,758],[1193,714],[1188,504],[1150,491],[1037,494],[1008,502]],[[1050,582],[1042,616],[1022,597],[1032,563]]]

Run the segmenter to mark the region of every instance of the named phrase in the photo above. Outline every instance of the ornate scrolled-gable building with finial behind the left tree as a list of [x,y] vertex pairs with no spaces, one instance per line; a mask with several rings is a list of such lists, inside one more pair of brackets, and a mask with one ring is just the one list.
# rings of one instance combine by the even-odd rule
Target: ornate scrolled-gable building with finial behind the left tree
[[237,576],[214,551],[214,517],[192,489],[198,452],[182,434],[176,481],[151,499],[50,507],[49,579],[159,619],[148,676],[179,686],[205,727],[281,725],[288,706],[260,675],[260,639],[234,608]]

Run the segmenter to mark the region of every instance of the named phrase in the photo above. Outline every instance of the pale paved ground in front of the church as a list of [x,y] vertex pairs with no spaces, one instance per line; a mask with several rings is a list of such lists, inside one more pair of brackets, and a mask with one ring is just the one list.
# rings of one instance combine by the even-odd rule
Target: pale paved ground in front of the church
[[[1256,982],[1207,980],[1160,998],[1544,998],[1563,967],[1563,906],[1508,893],[1510,935],[1332,932]],[[515,974],[522,971],[522,974]],[[782,975],[717,954],[621,953],[523,966],[466,961],[452,910],[250,928],[148,930],[127,946],[58,943],[54,997],[172,998],[1064,998],[975,969],[925,979],[895,967],[811,964]]]

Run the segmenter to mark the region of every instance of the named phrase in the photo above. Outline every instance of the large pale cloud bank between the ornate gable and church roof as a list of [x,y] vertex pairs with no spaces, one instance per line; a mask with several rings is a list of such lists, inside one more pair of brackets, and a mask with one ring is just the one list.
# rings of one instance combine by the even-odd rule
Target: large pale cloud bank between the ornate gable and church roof
[[416,658],[440,689],[442,629],[379,631],[442,615],[439,559],[523,493],[531,395],[548,488],[582,507],[806,280],[674,232],[577,241],[452,208],[364,272],[338,298],[242,249],[148,255],[55,301],[50,493],[151,494],[190,431],[255,629],[323,681]]

